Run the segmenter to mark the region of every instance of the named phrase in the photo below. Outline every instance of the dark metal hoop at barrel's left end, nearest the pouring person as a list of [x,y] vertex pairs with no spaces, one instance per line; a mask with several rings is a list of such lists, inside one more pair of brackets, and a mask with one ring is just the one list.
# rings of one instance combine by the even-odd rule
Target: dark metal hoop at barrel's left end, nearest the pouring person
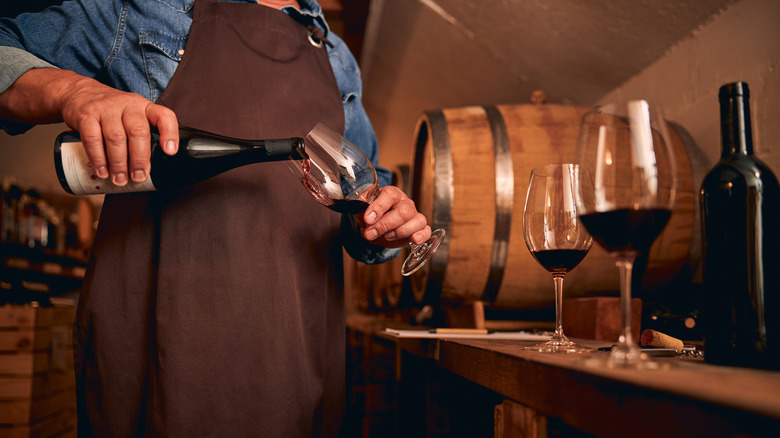
[[[452,224],[452,200],[455,193],[452,170],[452,151],[450,150],[450,136],[447,130],[447,119],[444,112],[434,110],[426,112],[431,138],[437,141],[433,143],[433,168],[437,177],[433,182],[434,202],[431,228],[444,228],[449,234]],[[433,253],[430,264],[426,295],[438,296],[444,285],[444,278],[449,260],[449,239],[444,239],[439,249]]]

